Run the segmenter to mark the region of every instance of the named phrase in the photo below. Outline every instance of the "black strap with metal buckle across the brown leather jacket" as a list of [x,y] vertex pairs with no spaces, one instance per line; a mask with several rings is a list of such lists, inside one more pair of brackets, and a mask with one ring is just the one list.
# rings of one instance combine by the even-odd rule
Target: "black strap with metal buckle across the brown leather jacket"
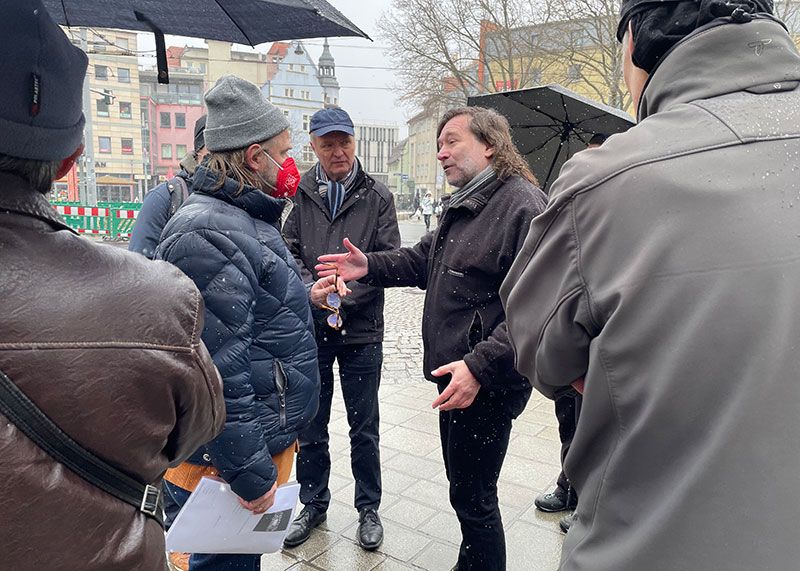
[[83,448],[50,420],[2,371],[0,412],[54,460],[164,527],[160,485],[143,484]]

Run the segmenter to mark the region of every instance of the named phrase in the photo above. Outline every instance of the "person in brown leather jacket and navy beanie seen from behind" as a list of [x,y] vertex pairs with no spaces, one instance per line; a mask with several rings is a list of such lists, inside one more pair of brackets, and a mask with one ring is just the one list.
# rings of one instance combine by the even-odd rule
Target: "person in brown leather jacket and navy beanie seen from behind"
[[0,400],[21,391],[95,476],[108,464],[150,490],[134,507],[109,492],[119,477],[97,487],[51,456],[78,456],[58,436],[40,448],[0,413],[0,567],[163,571],[162,475],[225,415],[203,302],[173,266],[82,238],[45,198],[83,150],[86,55],[41,0],[0,3],[0,46]]

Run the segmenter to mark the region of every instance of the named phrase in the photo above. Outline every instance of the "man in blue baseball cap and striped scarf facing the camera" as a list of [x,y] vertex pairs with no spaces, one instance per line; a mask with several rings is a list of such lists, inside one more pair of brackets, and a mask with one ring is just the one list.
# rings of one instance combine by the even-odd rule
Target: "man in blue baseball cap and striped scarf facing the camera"
[[[343,251],[347,236],[364,251],[400,246],[400,231],[392,193],[367,174],[356,158],[355,129],[344,109],[327,108],[311,118],[311,147],[319,162],[300,181],[284,236],[306,282],[317,279],[317,257]],[[297,481],[303,511],[284,544],[295,547],[325,521],[331,493],[328,421],[333,396],[333,362],[350,423],[350,455],[359,512],[357,539],[367,550],[383,541],[378,517],[381,466],[378,446],[378,387],[383,363],[383,289],[350,283],[338,318],[318,312],[317,345],[322,383],[319,412],[300,434]],[[331,327],[331,323],[336,327]]]

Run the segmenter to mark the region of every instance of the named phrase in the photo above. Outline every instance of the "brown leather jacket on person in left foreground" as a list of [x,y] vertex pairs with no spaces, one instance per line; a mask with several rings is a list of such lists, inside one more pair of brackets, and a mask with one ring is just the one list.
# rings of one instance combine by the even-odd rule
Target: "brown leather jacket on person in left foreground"
[[[74,234],[0,173],[0,370],[67,434],[159,482],[219,433],[202,299],[170,264]],[[157,522],[57,463],[0,415],[0,569],[166,568]]]

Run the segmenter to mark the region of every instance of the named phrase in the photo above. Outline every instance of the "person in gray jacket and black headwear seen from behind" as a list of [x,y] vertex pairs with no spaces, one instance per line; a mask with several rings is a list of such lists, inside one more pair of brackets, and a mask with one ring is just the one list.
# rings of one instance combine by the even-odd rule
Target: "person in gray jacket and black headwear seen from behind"
[[578,153],[501,289],[583,405],[565,571],[797,569],[800,55],[764,0],[625,0],[639,124]]

